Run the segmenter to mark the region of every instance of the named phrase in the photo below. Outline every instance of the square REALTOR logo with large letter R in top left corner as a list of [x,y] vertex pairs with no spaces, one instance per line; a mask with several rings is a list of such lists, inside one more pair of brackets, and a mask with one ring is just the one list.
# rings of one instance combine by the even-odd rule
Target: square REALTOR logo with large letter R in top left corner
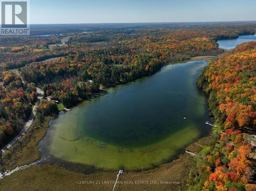
[[1,1],[0,35],[29,35],[28,1]]

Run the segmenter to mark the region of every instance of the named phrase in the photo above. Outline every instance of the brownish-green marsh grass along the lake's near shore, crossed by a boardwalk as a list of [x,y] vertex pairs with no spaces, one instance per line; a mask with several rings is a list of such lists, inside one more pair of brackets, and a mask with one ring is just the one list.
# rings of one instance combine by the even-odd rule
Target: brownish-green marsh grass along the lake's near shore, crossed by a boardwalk
[[[202,148],[198,145],[204,145],[204,143],[208,142],[211,139],[211,135],[213,134],[213,130],[211,130],[208,136],[204,136],[197,141],[192,142],[186,147],[186,150],[199,153]],[[196,161],[195,157],[188,154],[183,153],[177,156],[176,159],[172,160],[172,162],[164,163],[158,166],[157,168],[134,172],[134,171],[125,171],[124,174],[121,176],[119,182],[119,187],[122,188],[121,190],[144,190],[152,189],[152,190],[159,190],[160,188],[166,188],[167,190],[185,190],[185,184],[188,183],[188,174],[191,169],[196,168]],[[177,172],[177,173],[173,173]],[[40,173],[40,176],[38,176]],[[52,181],[54,181],[54,185],[56,188],[62,187],[67,188],[69,190],[92,190],[92,189],[111,189],[113,184],[110,183],[103,183],[105,181],[114,181],[116,171],[103,171],[103,172],[94,172],[90,174],[84,174],[77,171],[72,171],[67,169],[65,166],[60,164],[45,164],[45,165],[31,165],[26,169],[22,169],[19,171],[14,172],[9,176],[5,176],[0,183],[0,189],[5,190],[8,187],[16,187],[17,184],[24,186],[20,190],[28,190],[31,189],[33,185],[37,185],[33,183],[26,182],[26,179],[33,176],[36,177],[33,181],[38,182],[41,185],[41,179],[44,179],[45,183],[48,185],[46,189],[52,189]],[[21,176],[22,175],[22,176]],[[65,180],[63,180],[65,179]],[[123,183],[123,181],[141,181],[141,180],[149,180],[149,181],[173,181],[176,182],[174,184],[132,184],[132,183]],[[95,182],[92,184],[84,184],[84,183],[77,183],[77,181],[100,181],[101,183],[96,184]],[[10,184],[11,183],[11,184]],[[172,188],[172,189],[170,189]]]

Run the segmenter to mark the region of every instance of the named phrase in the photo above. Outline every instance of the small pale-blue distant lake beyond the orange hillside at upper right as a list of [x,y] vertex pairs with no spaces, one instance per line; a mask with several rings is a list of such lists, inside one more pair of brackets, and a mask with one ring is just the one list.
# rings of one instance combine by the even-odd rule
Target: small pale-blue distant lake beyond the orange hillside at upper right
[[236,39],[218,40],[220,49],[234,49],[238,44],[248,41],[256,41],[256,35],[242,35]]

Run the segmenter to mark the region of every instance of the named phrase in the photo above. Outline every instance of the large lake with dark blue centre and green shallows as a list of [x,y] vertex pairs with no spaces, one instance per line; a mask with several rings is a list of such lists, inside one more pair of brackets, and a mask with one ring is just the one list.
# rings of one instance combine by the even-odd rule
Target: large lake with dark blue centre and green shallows
[[40,151],[103,170],[150,169],[169,161],[210,130],[204,124],[207,100],[196,86],[205,65],[205,60],[167,65],[61,112]]

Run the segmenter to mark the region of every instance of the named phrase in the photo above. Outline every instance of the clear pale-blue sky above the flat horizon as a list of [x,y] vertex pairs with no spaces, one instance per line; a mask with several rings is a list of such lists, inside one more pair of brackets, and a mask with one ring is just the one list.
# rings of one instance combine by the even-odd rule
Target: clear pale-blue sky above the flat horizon
[[256,20],[255,8],[255,0],[30,0],[30,23]]

